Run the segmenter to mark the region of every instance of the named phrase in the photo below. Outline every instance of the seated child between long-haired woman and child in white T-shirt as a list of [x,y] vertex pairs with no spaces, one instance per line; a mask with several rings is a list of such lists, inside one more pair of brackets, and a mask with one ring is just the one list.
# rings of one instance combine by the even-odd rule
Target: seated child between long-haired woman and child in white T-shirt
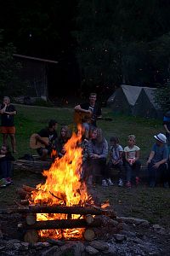
[[122,146],[119,144],[118,137],[111,137],[110,139],[110,154],[109,154],[109,162],[108,162],[108,169],[111,170],[111,167],[115,167],[119,170],[118,177],[118,186],[123,186],[123,163],[122,163],[122,154],[123,149]]

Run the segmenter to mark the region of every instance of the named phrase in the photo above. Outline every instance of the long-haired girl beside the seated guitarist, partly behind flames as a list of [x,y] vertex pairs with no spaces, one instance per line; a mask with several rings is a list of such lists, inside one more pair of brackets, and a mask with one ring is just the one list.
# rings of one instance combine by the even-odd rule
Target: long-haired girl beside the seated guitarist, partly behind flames
[[65,143],[71,138],[71,130],[67,125],[63,125],[60,129],[59,137],[55,141],[55,149],[57,155],[62,157],[65,154]]

